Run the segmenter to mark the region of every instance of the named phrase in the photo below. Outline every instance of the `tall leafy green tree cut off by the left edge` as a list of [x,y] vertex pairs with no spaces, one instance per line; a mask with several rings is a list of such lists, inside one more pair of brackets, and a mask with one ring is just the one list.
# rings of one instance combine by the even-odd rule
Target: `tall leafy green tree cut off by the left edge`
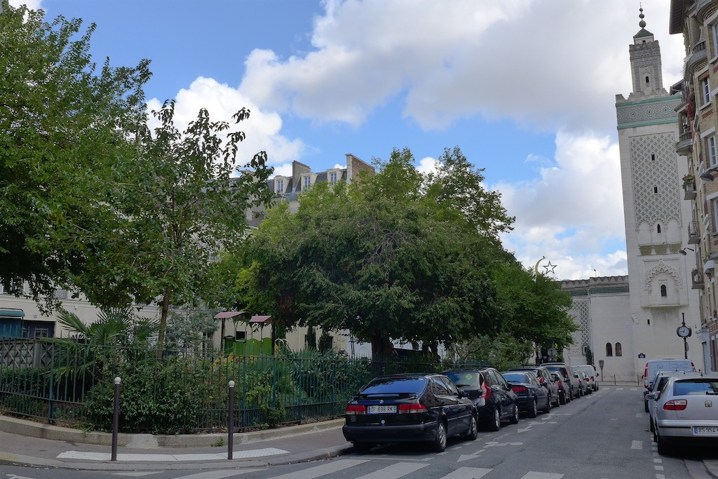
[[119,131],[146,119],[149,61],[101,69],[91,62],[92,24],[0,4],[0,281],[51,309],[56,284],[83,268],[89,229],[106,214],[106,171],[131,152]]

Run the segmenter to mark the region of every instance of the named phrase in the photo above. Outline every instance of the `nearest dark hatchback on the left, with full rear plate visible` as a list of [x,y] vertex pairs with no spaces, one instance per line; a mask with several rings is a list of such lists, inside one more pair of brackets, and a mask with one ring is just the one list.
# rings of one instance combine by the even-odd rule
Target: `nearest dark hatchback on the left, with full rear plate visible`
[[381,376],[349,401],[342,433],[358,452],[404,441],[429,442],[442,452],[447,437],[476,439],[476,407],[441,374]]

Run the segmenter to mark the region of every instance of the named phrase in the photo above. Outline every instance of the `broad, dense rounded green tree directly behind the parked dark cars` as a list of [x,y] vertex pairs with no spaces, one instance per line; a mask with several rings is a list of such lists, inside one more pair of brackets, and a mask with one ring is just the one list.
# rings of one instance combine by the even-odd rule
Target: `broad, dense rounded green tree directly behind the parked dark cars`
[[391,339],[435,348],[494,330],[490,266],[508,254],[498,251],[497,228],[480,231],[438,185],[427,194],[413,162],[408,149],[394,150],[377,175],[318,183],[296,214],[270,210],[248,256],[287,325],[350,330],[375,357],[391,354]]

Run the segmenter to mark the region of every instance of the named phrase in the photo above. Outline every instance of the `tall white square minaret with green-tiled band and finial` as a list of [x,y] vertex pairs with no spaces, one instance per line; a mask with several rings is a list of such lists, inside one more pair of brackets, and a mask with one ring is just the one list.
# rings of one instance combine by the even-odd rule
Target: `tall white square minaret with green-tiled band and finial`
[[[681,254],[691,221],[682,186],[688,162],[676,153],[682,98],[663,88],[661,48],[645,29],[643,8],[638,17],[640,30],[628,47],[633,91],[628,99],[616,95],[630,311],[620,313],[623,327],[616,335],[623,341],[612,341],[614,352],[621,343],[623,357],[595,354],[604,359],[606,374],[611,366],[617,376],[633,378],[643,375],[648,359],[682,358],[683,340],[676,335],[681,315],[699,317],[689,266],[695,259]],[[701,345],[691,346],[689,358],[701,363]]]

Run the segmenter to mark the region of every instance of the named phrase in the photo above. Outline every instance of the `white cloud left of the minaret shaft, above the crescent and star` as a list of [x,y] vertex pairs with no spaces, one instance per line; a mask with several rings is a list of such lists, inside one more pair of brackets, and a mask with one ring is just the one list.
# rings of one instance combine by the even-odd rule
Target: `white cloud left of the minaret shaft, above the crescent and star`
[[602,253],[625,235],[618,145],[607,136],[559,131],[555,160],[536,180],[493,187],[516,216],[505,247],[525,265],[546,256],[559,264],[559,279],[595,276],[593,269],[625,274],[625,251]]

